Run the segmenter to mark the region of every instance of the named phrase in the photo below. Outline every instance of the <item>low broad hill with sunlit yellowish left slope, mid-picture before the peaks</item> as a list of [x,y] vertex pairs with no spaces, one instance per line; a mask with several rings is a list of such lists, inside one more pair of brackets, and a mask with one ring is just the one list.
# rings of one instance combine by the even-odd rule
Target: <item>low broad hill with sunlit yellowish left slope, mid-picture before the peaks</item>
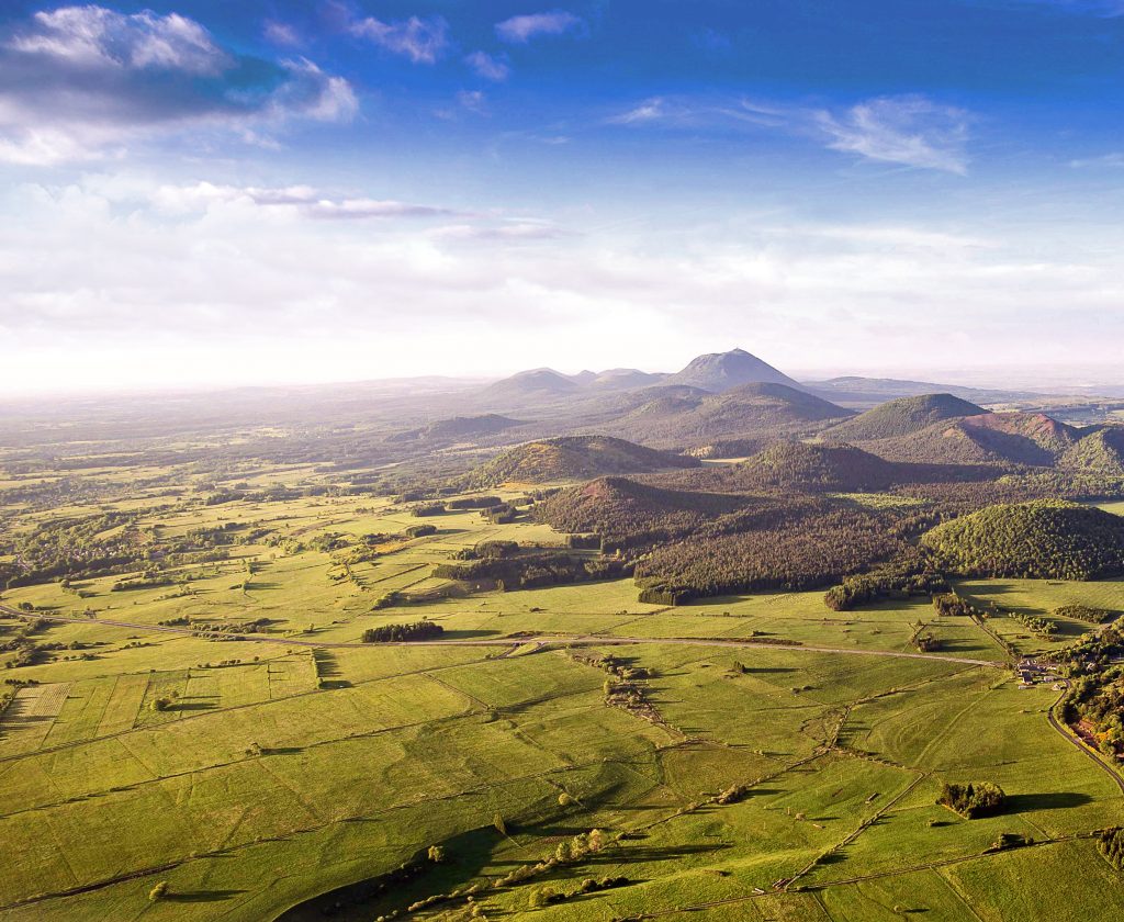
[[649,473],[697,467],[694,458],[655,451],[606,435],[566,435],[527,442],[505,451],[469,476],[478,487],[507,481],[545,483],[610,473]]

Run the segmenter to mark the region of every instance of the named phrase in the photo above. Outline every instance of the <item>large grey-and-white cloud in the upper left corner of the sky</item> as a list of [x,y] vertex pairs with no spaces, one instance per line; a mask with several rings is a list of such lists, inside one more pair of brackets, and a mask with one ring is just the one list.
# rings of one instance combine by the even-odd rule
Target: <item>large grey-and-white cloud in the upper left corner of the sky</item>
[[223,48],[199,22],[63,7],[0,43],[0,160],[49,164],[112,154],[187,127],[243,136],[293,118],[351,118],[346,80],[306,60]]

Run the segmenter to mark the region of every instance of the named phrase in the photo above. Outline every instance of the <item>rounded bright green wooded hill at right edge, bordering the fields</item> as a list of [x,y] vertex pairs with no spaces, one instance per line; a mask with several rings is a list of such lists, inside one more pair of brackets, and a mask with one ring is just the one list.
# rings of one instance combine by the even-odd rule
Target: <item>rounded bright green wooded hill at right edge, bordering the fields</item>
[[988,506],[937,525],[922,545],[976,577],[1097,579],[1124,573],[1124,517],[1060,499]]

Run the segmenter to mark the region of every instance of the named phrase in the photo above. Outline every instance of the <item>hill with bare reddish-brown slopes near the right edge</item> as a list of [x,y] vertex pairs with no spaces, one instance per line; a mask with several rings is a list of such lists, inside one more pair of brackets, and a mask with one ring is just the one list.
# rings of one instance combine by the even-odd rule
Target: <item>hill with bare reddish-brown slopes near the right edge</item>
[[1042,413],[985,413],[863,448],[892,461],[1049,468],[1077,441],[1076,430]]

